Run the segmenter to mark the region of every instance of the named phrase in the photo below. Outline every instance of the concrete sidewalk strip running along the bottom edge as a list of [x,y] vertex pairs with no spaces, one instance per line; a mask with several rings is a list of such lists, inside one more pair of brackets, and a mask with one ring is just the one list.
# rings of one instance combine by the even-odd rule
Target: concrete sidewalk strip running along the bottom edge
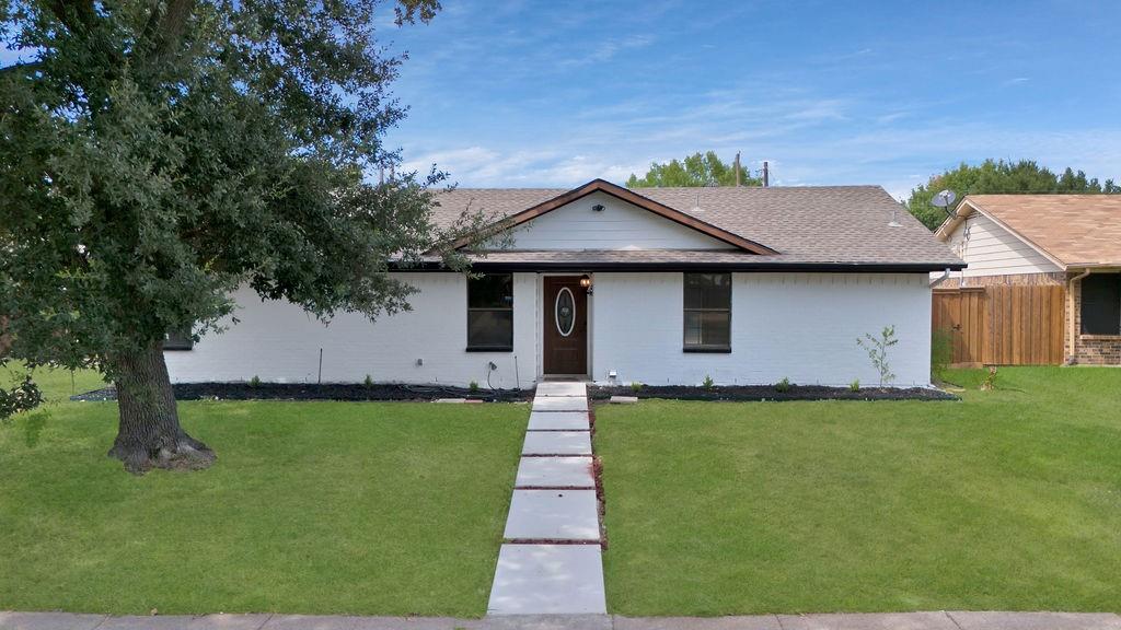
[[106,617],[58,612],[0,612],[2,630],[1121,630],[1112,613],[907,612],[645,617],[606,614],[436,617],[306,617],[209,614]]

